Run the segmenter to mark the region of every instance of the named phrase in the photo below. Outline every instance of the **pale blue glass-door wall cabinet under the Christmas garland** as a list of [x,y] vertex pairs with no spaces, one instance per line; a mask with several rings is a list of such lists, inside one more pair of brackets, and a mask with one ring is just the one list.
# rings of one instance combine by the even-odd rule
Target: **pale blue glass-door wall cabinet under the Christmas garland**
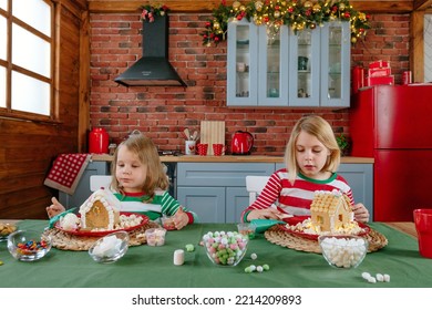
[[348,107],[349,22],[297,34],[287,25],[228,24],[228,106]]

